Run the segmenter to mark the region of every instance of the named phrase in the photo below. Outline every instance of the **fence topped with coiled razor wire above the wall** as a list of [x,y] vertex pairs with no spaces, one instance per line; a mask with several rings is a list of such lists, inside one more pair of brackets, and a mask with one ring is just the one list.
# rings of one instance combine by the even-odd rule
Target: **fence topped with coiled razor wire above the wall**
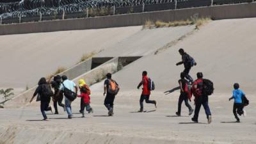
[[0,24],[175,10],[254,0],[22,0],[0,3]]

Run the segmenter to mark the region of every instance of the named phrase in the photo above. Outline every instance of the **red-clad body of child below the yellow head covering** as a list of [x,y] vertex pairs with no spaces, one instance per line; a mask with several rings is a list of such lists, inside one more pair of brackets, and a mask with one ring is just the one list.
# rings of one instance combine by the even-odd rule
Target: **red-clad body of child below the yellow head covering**
[[87,90],[84,86],[81,87],[81,95],[77,95],[77,97],[81,97],[81,99],[83,99],[83,104],[81,106],[82,117],[84,117],[84,108],[86,108],[86,111],[88,111],[88,113],[93,113],[93,109],[90,106],[90,95],[88,95]]

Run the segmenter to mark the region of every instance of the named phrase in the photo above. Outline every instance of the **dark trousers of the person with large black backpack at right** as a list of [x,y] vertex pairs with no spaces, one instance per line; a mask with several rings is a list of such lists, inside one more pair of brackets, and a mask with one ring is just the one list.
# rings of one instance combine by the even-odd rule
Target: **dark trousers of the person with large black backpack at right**
[[209,104],[208,104],[208,96],[205,95],[201,95],[200,97],[198,97],[196,99],[196,108],[195,108],[195,114],[193,119],[194,120],[198,120],[198,115],[200,112],[200,108],[203,105],[204,106],[204,110],[205,110],[205,115],[207,116],[207,118],[209,118],[209,115],[211,115],[211,110],[209,108]]

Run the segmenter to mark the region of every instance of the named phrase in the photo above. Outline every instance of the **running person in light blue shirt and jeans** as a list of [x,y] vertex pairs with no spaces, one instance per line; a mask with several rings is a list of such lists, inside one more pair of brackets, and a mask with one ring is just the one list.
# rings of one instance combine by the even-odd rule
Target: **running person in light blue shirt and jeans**
[[[64,92],[64,88],[67,88],[68,90],[71,90],[72,92],[77,94],[77,86],[73,81],[70,81],[67,76],[63,75],[61,76],[62,83],[60,85],[60,91]],[[59,94],[58,93],[58,94]],[[65,93],[64,93],[65,96]],[[71,102],[66,96],[65,96],[65,108],[68,113],[68,118],[72,118],[72,111],[71,111]]]

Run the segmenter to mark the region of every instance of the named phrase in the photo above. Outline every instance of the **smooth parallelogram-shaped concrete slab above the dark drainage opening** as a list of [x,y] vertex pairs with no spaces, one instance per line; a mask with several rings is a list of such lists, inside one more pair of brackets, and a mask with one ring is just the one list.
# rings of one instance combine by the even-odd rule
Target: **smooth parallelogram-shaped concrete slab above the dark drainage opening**
[[122,40],[108,51],[100,52],[97,56],[146,56],[156,49],[177,40],[180,36],[193,31],[195,26],[180,26],[175,28],[143,29],[129,38]]

